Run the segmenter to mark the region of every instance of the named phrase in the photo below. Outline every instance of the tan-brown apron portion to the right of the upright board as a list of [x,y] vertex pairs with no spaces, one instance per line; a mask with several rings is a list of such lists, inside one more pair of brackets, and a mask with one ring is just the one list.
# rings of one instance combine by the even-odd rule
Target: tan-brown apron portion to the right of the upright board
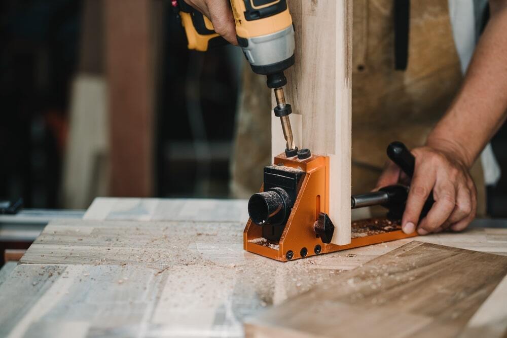
[[[411,2],[405,71],[394,69],[393,0],[357,0],[353,6],[352,192],[360,193],[375,187],[389,142],[424,144],[462,75],[446,1]],[[472,175],[478,214],[484,214],[479,162]]]

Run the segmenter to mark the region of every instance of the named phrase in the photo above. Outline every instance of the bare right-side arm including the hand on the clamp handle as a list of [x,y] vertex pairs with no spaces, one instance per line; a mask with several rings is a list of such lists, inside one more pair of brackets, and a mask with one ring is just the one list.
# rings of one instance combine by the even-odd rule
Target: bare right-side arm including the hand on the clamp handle
[[[463,230],[476,214],[477,193],[468,170],[505,121],[507,111],[507,1],[490,1],[490,21],[483,32],[464,82],[445,116],[415,148],[414,177],[403,215],[403,229],[419,234],[450,228]],[[389,163],[378,187],[403,178]],[[436,203],[419,223],[424,201]]]

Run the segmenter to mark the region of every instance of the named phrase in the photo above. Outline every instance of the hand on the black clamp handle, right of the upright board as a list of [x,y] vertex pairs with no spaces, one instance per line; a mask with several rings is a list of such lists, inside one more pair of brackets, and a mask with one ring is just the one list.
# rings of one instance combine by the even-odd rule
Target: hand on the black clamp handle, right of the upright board
[[[415,170],[402,219],[403,231],[415,230],[419,235],[446,229],[461,231],[474,219],[477,190],[464,161],[452,151],[429,146],[415,148]],[[389,161],[377,182],[377,189],[398,182],[409,183],[408,177]],[[419,222],[424,202],[433,194],[435,203]]]

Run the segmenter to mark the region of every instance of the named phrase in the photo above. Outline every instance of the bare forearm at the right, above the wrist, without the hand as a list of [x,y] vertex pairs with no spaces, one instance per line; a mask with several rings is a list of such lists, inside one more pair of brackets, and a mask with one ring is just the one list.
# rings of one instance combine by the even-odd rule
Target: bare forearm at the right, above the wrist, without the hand
[[470,167],[507,117],[507,1],[491,2],[463,85],[427,145],[456,153]]

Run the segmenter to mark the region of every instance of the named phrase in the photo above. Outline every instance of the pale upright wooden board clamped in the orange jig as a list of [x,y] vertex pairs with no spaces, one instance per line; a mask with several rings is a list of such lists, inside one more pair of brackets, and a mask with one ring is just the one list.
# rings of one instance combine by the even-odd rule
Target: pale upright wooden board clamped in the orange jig
[[[291,1],[296,63],[286,71],[285,97],[292,105],[296,145],[330,157],[332,243],[350,243],[352,2]],[[273,100],[273,105],[275,102]],[[272,115],[271,152],[285,149]]]

